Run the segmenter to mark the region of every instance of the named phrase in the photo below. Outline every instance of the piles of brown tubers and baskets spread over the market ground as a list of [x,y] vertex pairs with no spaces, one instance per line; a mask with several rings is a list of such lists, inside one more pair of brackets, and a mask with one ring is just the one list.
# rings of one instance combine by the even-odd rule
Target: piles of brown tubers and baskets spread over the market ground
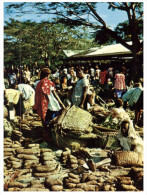
[[[43,126],[37,114],[29,113],[25,120],[16,117],[13,123],[5,118],[11,126],[11,133],[5,134],[3,141],[4,191],[142,191],[143,163],[137,154],[111,151],[108,145],[90,147],[87,140],[99,142],[100,135],[112,134],[114,137],[117,132],[101,131],[94,124],[92,126],[90,113],[86,123],[72,124],[70,114],[76,108],[70,109],[55,122],[55,132],[49,129],[62,139],[64,132],[69,131],[69,138],[75,140],[64,147],[55,142],[58,139],[50,143],[43,140]],[[82,112],[80,110],[80,114]],[[58,127],[60,124],[60,128],[56,124]],[[86,129],[88,135],[90,132],[95,137],[82,137],[80,134],[85,135]]]

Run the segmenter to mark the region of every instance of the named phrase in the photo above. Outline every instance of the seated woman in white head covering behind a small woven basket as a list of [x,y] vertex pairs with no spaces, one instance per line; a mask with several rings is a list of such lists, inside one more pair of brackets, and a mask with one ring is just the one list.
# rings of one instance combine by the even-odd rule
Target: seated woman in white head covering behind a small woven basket
[[118,139],[123,150],[143,154],[143,140],[135,131],[131,120],[122,121]]

